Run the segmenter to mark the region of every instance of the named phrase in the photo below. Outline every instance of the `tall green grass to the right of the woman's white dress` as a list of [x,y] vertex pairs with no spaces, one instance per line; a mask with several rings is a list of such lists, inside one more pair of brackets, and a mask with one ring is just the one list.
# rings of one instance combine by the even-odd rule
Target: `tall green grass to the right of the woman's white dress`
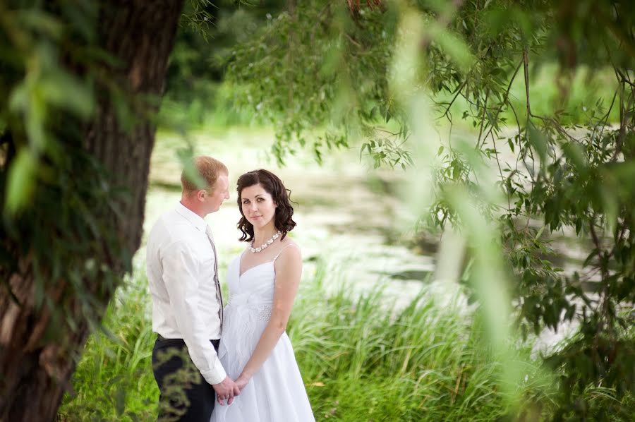
[[[296,303],[289,330],[316,419],[493,421],[512,411],[477,319],[425,290],[398,311],[381,287],[325,296],[323,270]],[[525,361],[529,352],[519,348]],[[519,364],[527,374],[519,395],[548,403],[538,364]]]

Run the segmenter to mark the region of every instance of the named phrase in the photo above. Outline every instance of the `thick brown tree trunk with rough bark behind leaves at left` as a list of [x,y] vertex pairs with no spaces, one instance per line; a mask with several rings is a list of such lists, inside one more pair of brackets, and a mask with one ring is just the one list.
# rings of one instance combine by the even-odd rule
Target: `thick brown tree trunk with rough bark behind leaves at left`
[[[124,92],[162,94],[182,5],[182,0],[103,2],[99,36],[102,47],[123,64],[114,74]],[[95,120],[85,129],[84,146],[111,173],[114,183],[130,193],[130,200],[119,204],[125,218],[106,218],[132,255],[142,234],[155,126],[142,118],[133,131],[126,132],[114,116],[114,105],[102,100]],[[121,271],[126,263],[113,262],[112,266]],[[20,305],[11,299],[8,289],[0,289],[0,422],[54,421],[75,369],[73,356],[80,354],[89,334],[88,325],[81,320],[80,306],[75,306],[71,311],[78,317],[75,330],[64,331],[64,338],[44,341],[43,333],[52,318],[46,307],[35,309],[28,254],[20,257],[18,269],[9,278],[9,286]],[[61,280],[47,290],[48,298],[59,301],[65,284]],[[103,297],[102,304],[109,296]]]

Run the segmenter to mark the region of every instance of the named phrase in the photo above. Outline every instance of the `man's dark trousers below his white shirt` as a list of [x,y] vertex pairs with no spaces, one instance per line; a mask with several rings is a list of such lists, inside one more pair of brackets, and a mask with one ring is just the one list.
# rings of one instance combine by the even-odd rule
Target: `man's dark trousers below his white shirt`
[[[210,340],[218,350],[219,340]],[[209,422],[214,388],[194,366],[182,339],[159,336],[152,349],[152,370],[159,385],[159,421]]]

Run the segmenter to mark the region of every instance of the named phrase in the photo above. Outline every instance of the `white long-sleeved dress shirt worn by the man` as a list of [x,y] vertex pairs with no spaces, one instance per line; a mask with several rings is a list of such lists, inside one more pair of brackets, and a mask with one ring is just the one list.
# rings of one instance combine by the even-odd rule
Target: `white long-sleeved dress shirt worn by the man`
[[214,282],[214,250],[207,223],[183,204],[159,217],[147,238],[147,281],[152,331],[183,339],[210,384],[226,373],[210,342],[219,339],[220,303]]

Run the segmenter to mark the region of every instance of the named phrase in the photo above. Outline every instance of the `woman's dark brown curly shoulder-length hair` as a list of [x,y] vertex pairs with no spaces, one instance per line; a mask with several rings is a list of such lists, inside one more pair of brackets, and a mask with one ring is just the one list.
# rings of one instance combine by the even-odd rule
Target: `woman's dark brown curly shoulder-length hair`
[[271,171],[263,169],[248,171],[238,177],[236,186],[236,191],[238,192],[238,210],[240,210],[243,216],[237,224],[238,229],[243,232],[243,236],[238,240],[246,242],[253,241],[253,225],[247,221],[243,214],[243,198],[241,197],[241,192],[244,188],[257,185],[258,183],[271,195],[274,203],[277,205],[275,226],[276,229],[282,231],[282,238],[280,239],[282,240],[289,231],[296,227],[296,222],[291,218],[294,215],[294,208],[291,207],[289,200],[291,191],[284,187],[282,180],[280,180],[278,176]]

